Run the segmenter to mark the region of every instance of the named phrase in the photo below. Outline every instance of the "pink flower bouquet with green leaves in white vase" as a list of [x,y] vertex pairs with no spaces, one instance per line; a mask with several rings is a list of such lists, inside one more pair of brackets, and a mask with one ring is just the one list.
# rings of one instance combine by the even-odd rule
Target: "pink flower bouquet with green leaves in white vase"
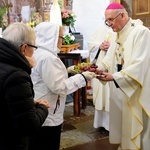
[[74,23],[75,23],[75,14],[67,9],[61,10],[61,17],[62,17],[62,24],[66,26],[71,26],[74,28]]

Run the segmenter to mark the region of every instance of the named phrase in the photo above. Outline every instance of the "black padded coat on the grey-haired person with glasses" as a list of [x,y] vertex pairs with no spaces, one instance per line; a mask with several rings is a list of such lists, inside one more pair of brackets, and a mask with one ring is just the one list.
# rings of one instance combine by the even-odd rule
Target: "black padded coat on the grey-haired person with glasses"
[[0,150],[27,150],[28,136],[48,110],[34,105],[31,68],[17,47],[0,38]]

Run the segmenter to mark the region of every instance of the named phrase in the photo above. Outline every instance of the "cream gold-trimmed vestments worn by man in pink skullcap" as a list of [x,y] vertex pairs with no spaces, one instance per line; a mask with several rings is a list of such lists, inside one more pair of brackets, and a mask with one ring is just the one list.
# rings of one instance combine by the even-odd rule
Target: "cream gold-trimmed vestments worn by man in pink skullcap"
[[[121,150],[150,149],[150,31],[130,19],[99,64],[110,82],[110,142]],[[118,87],[118,88],[117,88]]]

